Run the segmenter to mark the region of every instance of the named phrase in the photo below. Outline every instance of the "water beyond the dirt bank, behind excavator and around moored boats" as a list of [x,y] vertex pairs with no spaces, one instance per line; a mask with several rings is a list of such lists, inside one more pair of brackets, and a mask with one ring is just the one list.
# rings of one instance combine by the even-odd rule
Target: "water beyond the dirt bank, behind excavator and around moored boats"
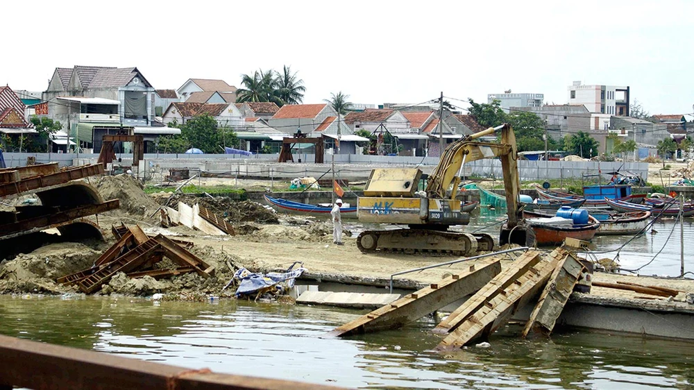
[[[493,237],[498,237],[499,228],[506,220],[503,211],[477,208],[473,211],[470,224],[459,227],[466,232],[486,232]],[[349,220],[347,228],[360,232],[364,226],[358,221]],[[368,226],[375,228],[375,226]],[[640,235],[629,241],[632,236],[598,236],[593,238],[593,255],[597,259],[616,259],[623,269],[641,275],[679,276],[680,275],[680,231],[679,221],[672,218],[661,218],[656,221],[651,229],[644,235]],[[691,244],[694,243],[694,218],[684,219],[684,271],[691,271],[685,275],[694,278],[694,255]],[[688,248],[689,251],[688,251]]]

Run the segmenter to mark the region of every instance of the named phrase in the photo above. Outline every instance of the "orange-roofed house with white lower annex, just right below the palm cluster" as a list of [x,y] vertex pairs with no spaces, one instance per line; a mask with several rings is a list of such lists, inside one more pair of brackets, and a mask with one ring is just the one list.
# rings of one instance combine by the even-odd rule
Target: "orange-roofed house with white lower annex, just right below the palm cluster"
[[340,154],[354,154],[357,151],[356,142],[369,141],[355,135],[344,117],[339,116],[327,103],[282,105],[268,120],[268,124],[286,134],[301,132],[309,137],[323,137],[325,149],[337,146],[335,140],[339,137]]

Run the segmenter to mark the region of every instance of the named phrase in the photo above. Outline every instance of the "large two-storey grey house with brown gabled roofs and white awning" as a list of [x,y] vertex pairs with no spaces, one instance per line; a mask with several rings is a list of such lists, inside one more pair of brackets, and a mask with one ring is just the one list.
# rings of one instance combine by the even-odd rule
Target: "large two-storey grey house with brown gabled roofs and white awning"
[[[118,133],[155,126],[154,88],[136,67],[56,68],[43,92],[47,116],[60,121],[83,148],[99,149],[94,127]],[[109,130],[110,129],[110,130]],[[101,134],[100,133],[100,134]]]

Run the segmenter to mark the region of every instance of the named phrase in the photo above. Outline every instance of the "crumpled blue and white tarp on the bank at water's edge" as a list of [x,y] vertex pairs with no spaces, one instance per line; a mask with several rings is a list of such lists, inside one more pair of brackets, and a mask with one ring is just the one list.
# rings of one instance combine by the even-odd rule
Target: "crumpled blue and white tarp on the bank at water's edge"
[[[296,264],[300,264],[298,268],[294,268]],[[294,287],[294,280],[301,276],[306,269],[303,263],[295,262],[289,266],[285,272],[270,272],[266,275],[262,273],[252,273],[245,268],[241,268],[234,273],[234,278],[227,284],[228,287],[234,280],[239,280],[239,288],[236,289],[236,296],[247,296],[258,294],[266,291],[274,291],[279,294],[285,294],[287,290]],[[225,288],[226,288],[225,287]]]

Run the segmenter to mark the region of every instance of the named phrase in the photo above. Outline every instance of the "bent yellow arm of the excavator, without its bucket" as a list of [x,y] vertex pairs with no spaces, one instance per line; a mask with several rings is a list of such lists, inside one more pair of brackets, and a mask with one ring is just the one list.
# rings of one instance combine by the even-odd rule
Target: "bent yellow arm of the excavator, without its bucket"
[[[492,135],[501,130],[501,142],[477,142],[475,139],[484,135]],[[508,227],[515,228],[520,221],[518,211],[518,194],[521,187],[518,178],[518,162],[516,151],[516,135],[509,124],[496,128],[488,128],[454,142],[443,151],[439,164],[429,175],[426,188],[430,198],[455,198],[460,172],[466,162],[482,160],[483,158],[500,158],[504,171],[504,188],[506,190]]]

